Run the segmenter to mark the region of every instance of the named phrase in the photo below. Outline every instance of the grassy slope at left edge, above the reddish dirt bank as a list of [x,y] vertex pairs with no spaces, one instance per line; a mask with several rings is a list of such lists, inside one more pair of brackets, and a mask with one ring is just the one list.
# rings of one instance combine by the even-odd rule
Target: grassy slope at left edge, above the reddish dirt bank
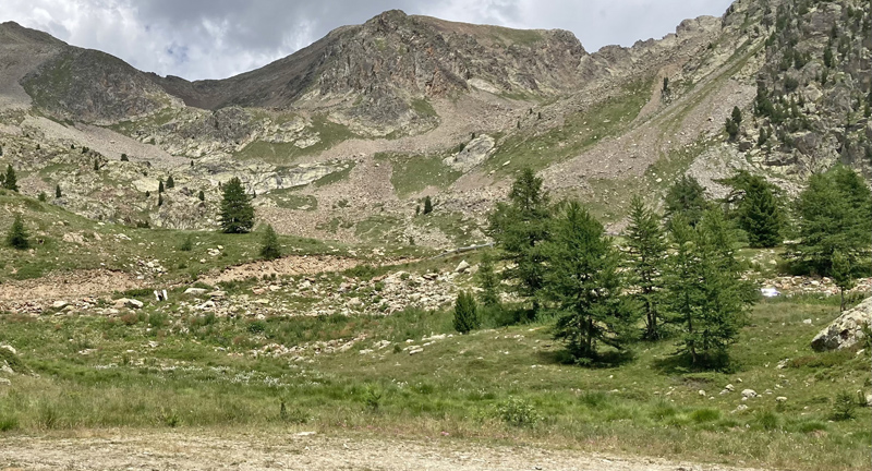
[[[58,206],[5,192],[0,194],[0,208],[22,214],[34,242],[33,251],[16,251],[0,245],[0,282],[38,278],[52,271],[106,268],[136,275],[137,261],[158,261],[167,269],[161,283],[191,280],[203,273],[258,258],[261,234],[225,234],[217,231],[182,231],[135,229],[116,224],[95,222]],[[0,218],[0,233],[12,225],[11,217]],[[81,234],[84,243],[63,240],[64,234]],[[190,252],[180,250],[192,238]],[[99,239],[99,240],[98,240]],[[41,242],[39,242],[41,241]],[[289,254],[346,254],[347,246],[312,239],[281,235],[280,243]],[[220,255],[209,249],[223,246]],[[339,252],[334,252],[338,249]],[[199,261],[205,261],[201,263]]]

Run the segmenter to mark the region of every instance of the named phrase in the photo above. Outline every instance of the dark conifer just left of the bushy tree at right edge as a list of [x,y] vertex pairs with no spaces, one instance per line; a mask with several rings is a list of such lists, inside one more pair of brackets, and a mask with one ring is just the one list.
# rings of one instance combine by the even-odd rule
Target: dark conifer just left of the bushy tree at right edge
[[776,198],[775,185],[746,170],[739,170],[722,182],[732,188],[725,201],[735,206],[739,227],[748,233],[751,246],[774,247],[780,244],[786,216]]

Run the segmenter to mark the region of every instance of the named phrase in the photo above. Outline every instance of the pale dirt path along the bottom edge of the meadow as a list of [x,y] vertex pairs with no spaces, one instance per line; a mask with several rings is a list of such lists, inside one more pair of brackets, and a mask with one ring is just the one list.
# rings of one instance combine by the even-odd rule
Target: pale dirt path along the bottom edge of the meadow
[[452,439],[424,442],[294,433],[220,435],[193,431],[101,431],[87,437],[0,439],[0,470],[25,469],[738,471],[716,464]]

